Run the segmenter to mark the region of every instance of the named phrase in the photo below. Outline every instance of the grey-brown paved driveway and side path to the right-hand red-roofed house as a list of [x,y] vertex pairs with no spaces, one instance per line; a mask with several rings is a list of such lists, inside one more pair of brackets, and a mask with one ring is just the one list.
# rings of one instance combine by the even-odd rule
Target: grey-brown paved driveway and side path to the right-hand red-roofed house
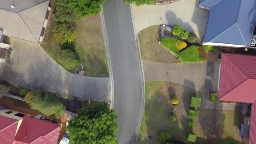
[[237,110],[246,112],[246,104],[208,102],[209,91],[217,91],[219,77],[219,61],[203,61],[198,63],[161,64],[143,61],[146,81],[167,81],[179,83],[189,88],[202,91],[203,109]]

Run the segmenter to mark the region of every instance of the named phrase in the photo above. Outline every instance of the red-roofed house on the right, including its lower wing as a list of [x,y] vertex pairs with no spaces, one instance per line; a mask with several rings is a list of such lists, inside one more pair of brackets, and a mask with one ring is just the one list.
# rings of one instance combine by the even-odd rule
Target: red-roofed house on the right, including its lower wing
[[256,144],[256,56],[222,53],[219,79],[219,101],[251,104],[240,131]]

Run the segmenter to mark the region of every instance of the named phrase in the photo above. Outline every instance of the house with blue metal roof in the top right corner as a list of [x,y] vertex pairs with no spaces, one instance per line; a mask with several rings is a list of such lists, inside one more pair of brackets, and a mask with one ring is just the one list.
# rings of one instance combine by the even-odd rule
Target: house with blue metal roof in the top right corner
[[255,46],[255,0],[200,0],[199,7],[210,11],[203,45]]

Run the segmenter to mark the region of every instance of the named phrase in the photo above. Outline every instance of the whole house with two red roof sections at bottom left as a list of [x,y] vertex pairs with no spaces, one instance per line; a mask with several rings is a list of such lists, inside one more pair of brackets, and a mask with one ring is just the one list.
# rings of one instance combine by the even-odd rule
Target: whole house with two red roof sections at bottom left
[[1,144],[57,144],[61,125],[0,106]]

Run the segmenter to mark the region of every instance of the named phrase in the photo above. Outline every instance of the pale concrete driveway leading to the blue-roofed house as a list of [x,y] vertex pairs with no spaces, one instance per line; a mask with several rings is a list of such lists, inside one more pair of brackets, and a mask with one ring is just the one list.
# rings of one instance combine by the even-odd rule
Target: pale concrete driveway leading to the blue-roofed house
[[199,0],[179,0],[167,5],[132,5],[135,30],[138,33],[156,24],[179,24],[202,39],[209,11],[198,8]]

